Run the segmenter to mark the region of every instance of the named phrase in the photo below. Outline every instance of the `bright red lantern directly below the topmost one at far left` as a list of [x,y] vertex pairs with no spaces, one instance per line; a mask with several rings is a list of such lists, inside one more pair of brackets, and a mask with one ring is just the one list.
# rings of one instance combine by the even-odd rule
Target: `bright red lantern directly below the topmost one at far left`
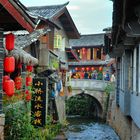
[[14,72],[14,70],[15,70],[15,58],[13,56],[5,57],[4,70],[6,72]]

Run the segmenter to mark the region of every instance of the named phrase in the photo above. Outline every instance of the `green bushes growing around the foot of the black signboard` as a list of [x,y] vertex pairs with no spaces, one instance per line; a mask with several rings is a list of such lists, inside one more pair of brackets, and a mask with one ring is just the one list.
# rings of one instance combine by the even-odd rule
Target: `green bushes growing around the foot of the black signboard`
[[27,105],[11,105],[4,110],[5,140],[52,140],[60,132],[61,125],[52,124],[51,117],[47,118],[44,128],[35,128],[31,125],[30,113],[26,107]]

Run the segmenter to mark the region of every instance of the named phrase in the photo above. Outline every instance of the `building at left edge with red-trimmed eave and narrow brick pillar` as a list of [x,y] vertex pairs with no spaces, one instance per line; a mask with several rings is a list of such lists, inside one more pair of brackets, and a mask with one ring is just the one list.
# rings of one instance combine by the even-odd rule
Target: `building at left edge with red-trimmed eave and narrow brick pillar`
[[27,30],[32,32],[36,26],[32,18],[24,9],[19,1],[0,1],[0,139],[3,140],[4,114],[2,112],[2,77],[3,77],[3,60],[5,57],[4,32]]

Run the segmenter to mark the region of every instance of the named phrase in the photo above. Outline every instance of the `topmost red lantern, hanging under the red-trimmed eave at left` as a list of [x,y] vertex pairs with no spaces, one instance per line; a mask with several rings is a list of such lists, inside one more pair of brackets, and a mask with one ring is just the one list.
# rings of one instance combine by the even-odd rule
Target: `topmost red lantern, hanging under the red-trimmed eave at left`
[[14,49],[14,41],[15,41],[14,34],[10,33],[6,35],[5,44],[6,44],[6,49],[8,51],[11,51]]

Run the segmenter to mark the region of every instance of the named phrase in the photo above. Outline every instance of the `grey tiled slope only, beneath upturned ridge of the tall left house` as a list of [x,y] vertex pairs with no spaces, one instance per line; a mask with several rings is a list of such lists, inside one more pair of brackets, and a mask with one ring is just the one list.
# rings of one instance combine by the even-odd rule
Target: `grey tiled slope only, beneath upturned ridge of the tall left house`
[[68,3],[62,5],[49,5],[49,6],[35,6],[29,7],[29,11],[35,15],[43,17],[45,19],[51,19],[58,12],[60,12]]

